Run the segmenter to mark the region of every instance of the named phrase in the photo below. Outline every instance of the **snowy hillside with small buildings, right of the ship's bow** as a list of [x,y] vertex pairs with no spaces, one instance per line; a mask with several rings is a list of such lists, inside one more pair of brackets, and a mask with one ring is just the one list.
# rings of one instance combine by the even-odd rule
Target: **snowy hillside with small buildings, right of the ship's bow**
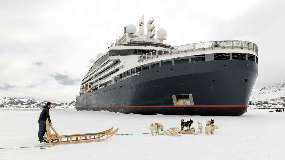
[[271,87],[263,87],[259,91],[252,91],[250,101],[268,101],[280,97],[285,97],[285,82]]

